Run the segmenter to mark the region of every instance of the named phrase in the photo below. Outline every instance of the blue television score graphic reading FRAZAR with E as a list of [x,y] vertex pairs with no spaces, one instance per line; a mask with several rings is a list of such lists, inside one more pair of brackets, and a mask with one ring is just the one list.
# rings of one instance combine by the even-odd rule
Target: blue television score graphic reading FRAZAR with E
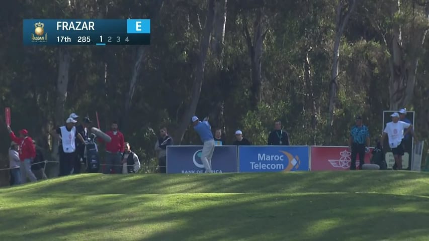
[[24,45],[149,45],[150,19],[24,19]]

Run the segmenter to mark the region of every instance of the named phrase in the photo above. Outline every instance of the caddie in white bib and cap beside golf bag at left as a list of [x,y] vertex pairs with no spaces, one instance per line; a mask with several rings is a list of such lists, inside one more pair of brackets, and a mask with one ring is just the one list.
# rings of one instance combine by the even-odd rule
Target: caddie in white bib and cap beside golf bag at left
[[76,159],[76,145],[75,139],[78,138],[81,143],[85,143],[82,136],[76,131],[76,120],[68,118],[65,121],[65,126],[62,126],[51,132],[53,136],[56,136],[59,142],[58,154],[59,154],[59,176],[70,175],[74,162]]

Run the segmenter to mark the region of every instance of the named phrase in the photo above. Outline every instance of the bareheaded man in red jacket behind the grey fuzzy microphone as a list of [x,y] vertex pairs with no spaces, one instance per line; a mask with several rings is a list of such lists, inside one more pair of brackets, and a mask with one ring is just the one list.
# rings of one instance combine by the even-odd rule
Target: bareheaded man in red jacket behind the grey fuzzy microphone
[[[111,130],[106,133],[110,138],[111,142],[106,143],[106,156],[105,156],[105,169],[104,174],[121,174],[122,173],[122,153],[125,149],[124,135],[118,131],[118,123],[112,122]],[[100,142],[105,142],[100,138]]]

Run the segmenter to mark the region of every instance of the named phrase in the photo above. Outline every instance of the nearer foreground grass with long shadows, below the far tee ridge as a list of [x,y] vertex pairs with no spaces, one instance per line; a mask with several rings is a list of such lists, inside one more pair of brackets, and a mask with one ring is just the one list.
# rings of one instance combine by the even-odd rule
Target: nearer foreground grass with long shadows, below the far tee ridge
[[429,237],[426,228],[429,199],[416,196],[364,193],[40,196],[30,196],[40,199],[21,205],[10,204],[20,198],[4,198],[0,214],[9,218],[0,225],[0,236],[5,240],[250,241],[427,240]]

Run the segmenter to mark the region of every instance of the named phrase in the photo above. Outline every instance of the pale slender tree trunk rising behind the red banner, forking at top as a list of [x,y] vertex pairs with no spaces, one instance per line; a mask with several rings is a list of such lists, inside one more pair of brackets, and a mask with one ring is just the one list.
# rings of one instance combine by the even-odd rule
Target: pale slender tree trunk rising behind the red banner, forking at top
[[349,18],[352,15],[353,11],[356,8],[356,0],[349,1],[349,10],[347,11],[344,18],[343,15],[343,3],[342,0],[339,0],[338,6],[336,9],[336,32],[335,39],[333,44],[333,59],[332,59],[332,71],[331,71],[331,81],[329,89],[329,122],[328,122],[328,138],[327,141],[331,142],[332,131],[333,131],[333,119],[335,115],[335,104],[338,94],[338,73],[339,73],[339,45],[341,43],[341,37],[344,33]]

